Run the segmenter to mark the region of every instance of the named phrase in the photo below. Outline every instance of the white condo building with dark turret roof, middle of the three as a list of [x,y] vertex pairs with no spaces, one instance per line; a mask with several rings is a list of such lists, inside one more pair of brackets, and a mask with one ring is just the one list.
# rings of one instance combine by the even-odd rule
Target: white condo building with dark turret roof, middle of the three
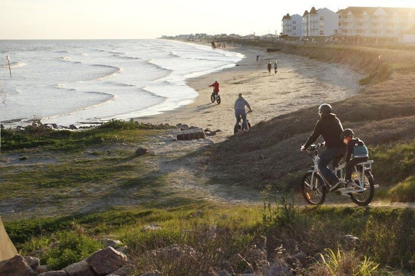
[[322,8],[312,7],[302,16],[302,35],[305,37],[324,37],[337,34],[339,16],[337,13]]

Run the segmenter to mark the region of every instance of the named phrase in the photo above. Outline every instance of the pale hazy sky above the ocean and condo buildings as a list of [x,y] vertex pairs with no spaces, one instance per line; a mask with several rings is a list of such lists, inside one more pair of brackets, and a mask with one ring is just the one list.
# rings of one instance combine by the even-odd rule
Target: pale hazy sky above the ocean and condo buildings
[[312,6],[415,8],[415,0],[0,0],[0,40],[279,34],[285,14]]

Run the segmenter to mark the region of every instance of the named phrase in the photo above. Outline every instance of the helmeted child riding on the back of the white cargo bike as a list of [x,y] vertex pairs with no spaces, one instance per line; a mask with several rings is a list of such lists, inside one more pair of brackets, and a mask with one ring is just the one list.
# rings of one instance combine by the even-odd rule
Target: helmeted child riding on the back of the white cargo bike
[[[342,133],[343,143],[347,145],[346,153],[346,183],[347,190],[354,189],[353,182],[351,181],[351,173],[356,164],[368,161],[369,150],[365,146],[362,140],[354,137],[353,130],[346,128]],[[353,158],[350,159],[351,155]]]

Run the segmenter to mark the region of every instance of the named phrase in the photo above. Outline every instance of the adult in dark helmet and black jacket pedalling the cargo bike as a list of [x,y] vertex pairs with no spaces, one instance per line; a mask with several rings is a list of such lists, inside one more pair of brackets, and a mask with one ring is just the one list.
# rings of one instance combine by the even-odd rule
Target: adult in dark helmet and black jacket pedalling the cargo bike
[[333,168],[338,167],[340,160],[346,154],[346,146],[340,138],[343,133],[342,123],[336,114],[331,112],[332,108],[329,104],[319,106],[321,118],[317,121],[313,133],[308,137],[305,144],[301,146],[301,151],[313,144],[320,135],[323,136],[326,149],[320,154],[318,166],[325,179],[330,183],[330,191],[334,191],[342,182],[327,165],[331,161]]

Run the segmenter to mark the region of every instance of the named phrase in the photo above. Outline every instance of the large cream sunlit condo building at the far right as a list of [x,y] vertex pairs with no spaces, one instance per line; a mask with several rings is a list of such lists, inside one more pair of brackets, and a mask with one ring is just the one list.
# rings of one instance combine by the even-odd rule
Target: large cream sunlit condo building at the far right
[[339,35],[396,41],[415,24],[414,8],[348,7],[337,12]]

